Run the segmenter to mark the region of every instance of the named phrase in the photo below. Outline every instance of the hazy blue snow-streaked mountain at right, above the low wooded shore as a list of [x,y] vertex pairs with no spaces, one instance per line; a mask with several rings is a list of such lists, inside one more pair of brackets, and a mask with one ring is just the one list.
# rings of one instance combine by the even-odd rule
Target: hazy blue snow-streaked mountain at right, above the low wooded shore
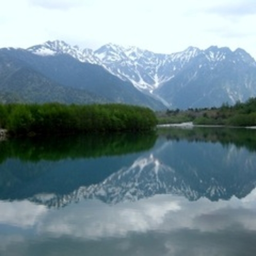
[[154,93],[179,108],[244,102],[256,96],[256,63],[242,49],[212,46]]

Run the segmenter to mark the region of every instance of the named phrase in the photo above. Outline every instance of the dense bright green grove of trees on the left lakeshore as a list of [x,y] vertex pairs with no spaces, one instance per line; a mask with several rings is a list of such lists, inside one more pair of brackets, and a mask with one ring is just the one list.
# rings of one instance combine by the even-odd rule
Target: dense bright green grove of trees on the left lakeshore
[[156,125],[147,107],[60,103],[0,105],[0,123],[11,135],[147,131]]

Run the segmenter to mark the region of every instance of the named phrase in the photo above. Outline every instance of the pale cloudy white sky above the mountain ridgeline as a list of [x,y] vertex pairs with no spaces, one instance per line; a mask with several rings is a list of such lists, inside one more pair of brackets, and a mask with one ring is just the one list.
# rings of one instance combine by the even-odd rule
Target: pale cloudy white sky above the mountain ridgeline
[[173,53],[243,48],[256,58],[255,0],[0,0],[0,48],[48,40]]

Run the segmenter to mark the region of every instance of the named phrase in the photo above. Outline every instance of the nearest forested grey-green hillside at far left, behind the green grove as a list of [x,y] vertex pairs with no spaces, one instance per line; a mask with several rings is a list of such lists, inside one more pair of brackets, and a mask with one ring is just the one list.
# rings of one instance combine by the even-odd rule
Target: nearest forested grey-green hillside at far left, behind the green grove
[[1,102],[102,103],[107,100],[53,82],[19,60],[0,53]]

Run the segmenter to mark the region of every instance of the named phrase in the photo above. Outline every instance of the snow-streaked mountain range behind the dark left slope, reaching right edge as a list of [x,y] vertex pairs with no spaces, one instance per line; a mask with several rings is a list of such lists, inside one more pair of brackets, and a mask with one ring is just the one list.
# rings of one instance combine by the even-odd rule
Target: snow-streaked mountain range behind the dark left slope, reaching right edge
[[243,49],[188,47],[171,54],[106,44],[93,51],[48,41],[28,48],[41,56],[69,54],[104,67],[167,107],[209,107],[256,96],[256,63]]

